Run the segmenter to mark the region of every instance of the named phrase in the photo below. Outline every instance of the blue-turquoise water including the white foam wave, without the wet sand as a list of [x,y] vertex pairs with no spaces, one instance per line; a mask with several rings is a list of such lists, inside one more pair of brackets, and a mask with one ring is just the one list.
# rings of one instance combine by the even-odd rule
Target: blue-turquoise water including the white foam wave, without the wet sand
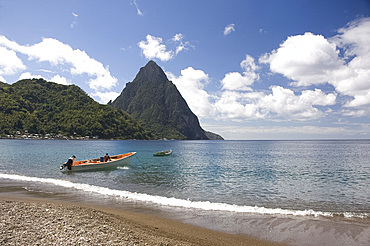
[[[166,149],[173,154],[153,157]],[[117,170],[59,172],[73,154],[81,160],[131,151],[130,165]],[[19,183],[37,192],[214,211],[224,222],[248,214],[367,223],[370,141],[0,140],[0,184]]]

